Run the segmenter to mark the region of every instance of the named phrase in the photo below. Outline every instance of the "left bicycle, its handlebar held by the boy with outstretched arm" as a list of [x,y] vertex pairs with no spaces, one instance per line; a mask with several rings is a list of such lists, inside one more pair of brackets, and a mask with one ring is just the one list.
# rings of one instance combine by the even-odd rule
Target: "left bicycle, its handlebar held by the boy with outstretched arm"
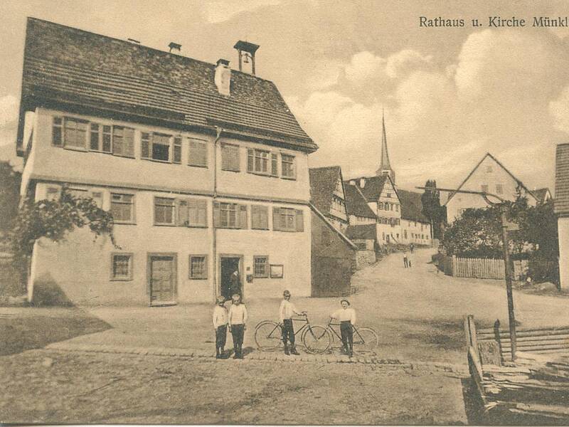
[[[302,312],[303,317],[293,318],[293,322],[304,322],[304,325],[294,332],[294,337],[300,336],[300,341],[310,354],[324,353],[330,346],[329,332],[319,325],[310,325],[307,312]],[[255,327],[255,343],[257,349],[262,351],[273,351],[280,349],[282,342],[281,325],[272,320],[263,320]],[[322,349],[322,347],[326,347]]]

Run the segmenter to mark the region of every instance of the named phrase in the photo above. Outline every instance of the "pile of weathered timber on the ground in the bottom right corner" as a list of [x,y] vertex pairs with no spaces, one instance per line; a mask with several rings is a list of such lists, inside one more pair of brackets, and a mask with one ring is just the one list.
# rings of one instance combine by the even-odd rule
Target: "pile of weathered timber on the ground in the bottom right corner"
[[486,410],[569,423],[569,354],[519,352],[515,366],[484,366]]

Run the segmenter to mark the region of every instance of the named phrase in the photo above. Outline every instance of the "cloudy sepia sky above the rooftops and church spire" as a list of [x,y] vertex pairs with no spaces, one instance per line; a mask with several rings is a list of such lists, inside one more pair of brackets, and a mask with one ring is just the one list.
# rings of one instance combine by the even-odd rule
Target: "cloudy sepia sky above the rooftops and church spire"
[[[555,146],[569,142],[569,16],[565,1],[12,1],[0,2],[0,159],[15,157],[26,16],[134,38],[215,63],[235,41],[260,45],[272,80],[319,149],[310,167],[375,174],[385,114],[398,186],[455,188],[491,152],[530,189],[553,191]],[[463,27],[420,26],[464,19]],[[526,19],[490,28],[489,17]],[[472,26],[479,19],[482,26]]]

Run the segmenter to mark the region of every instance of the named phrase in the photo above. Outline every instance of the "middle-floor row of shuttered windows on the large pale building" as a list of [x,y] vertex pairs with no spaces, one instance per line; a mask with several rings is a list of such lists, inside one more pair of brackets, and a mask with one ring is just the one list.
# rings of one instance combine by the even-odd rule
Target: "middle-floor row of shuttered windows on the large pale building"
[[[102,193],[86,189],[70,189],[76,197],[92,197],[102,208]],[[59,196],[59,189],[48,188],[48,199]],[[110,212],[115,223],[136,223],[135,194],[111,192]],[[154,197],[154,225],[207,227],[207,200],[189,198]],[[269,230],[269,208],[267,206],[213,201],[213,226],[216,228],[251,228]],[[272,208],[272,229],[277,231],[304,231],[302,210],[292,208]]]

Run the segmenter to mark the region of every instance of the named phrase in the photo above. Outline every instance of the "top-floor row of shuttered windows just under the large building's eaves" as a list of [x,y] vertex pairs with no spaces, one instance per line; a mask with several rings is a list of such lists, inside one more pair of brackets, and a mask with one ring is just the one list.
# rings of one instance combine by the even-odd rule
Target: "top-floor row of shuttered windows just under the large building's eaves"
[[[52,144],[55,147],[101,152],[132,159],[136,157],[132,127],[103,125],[73,117],[53,117]],[[141,132],[140,158],[181,164],[182,144],[184,144],[184,138],[180,135]],[[295,157],[290,154],[248,148],[247,156],[247,172],[249,173],[296,179]],[[187,164],[192,167],[208,167],[206,141],[189,139]],[[240,172],[240,147],[238,145],[225,143],[221,145],[221,169]]]

